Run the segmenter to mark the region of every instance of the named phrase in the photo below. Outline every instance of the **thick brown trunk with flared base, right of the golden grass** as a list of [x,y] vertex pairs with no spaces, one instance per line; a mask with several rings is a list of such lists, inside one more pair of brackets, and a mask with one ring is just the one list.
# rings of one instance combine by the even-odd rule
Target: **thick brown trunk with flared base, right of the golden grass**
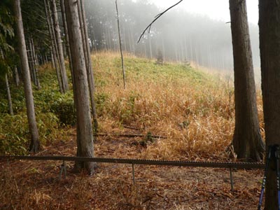
[[230,18],[235,71],[235,132],[232,144],[237,158],[260,161],[265,145],[260,136],[245,0],[230,0]]

